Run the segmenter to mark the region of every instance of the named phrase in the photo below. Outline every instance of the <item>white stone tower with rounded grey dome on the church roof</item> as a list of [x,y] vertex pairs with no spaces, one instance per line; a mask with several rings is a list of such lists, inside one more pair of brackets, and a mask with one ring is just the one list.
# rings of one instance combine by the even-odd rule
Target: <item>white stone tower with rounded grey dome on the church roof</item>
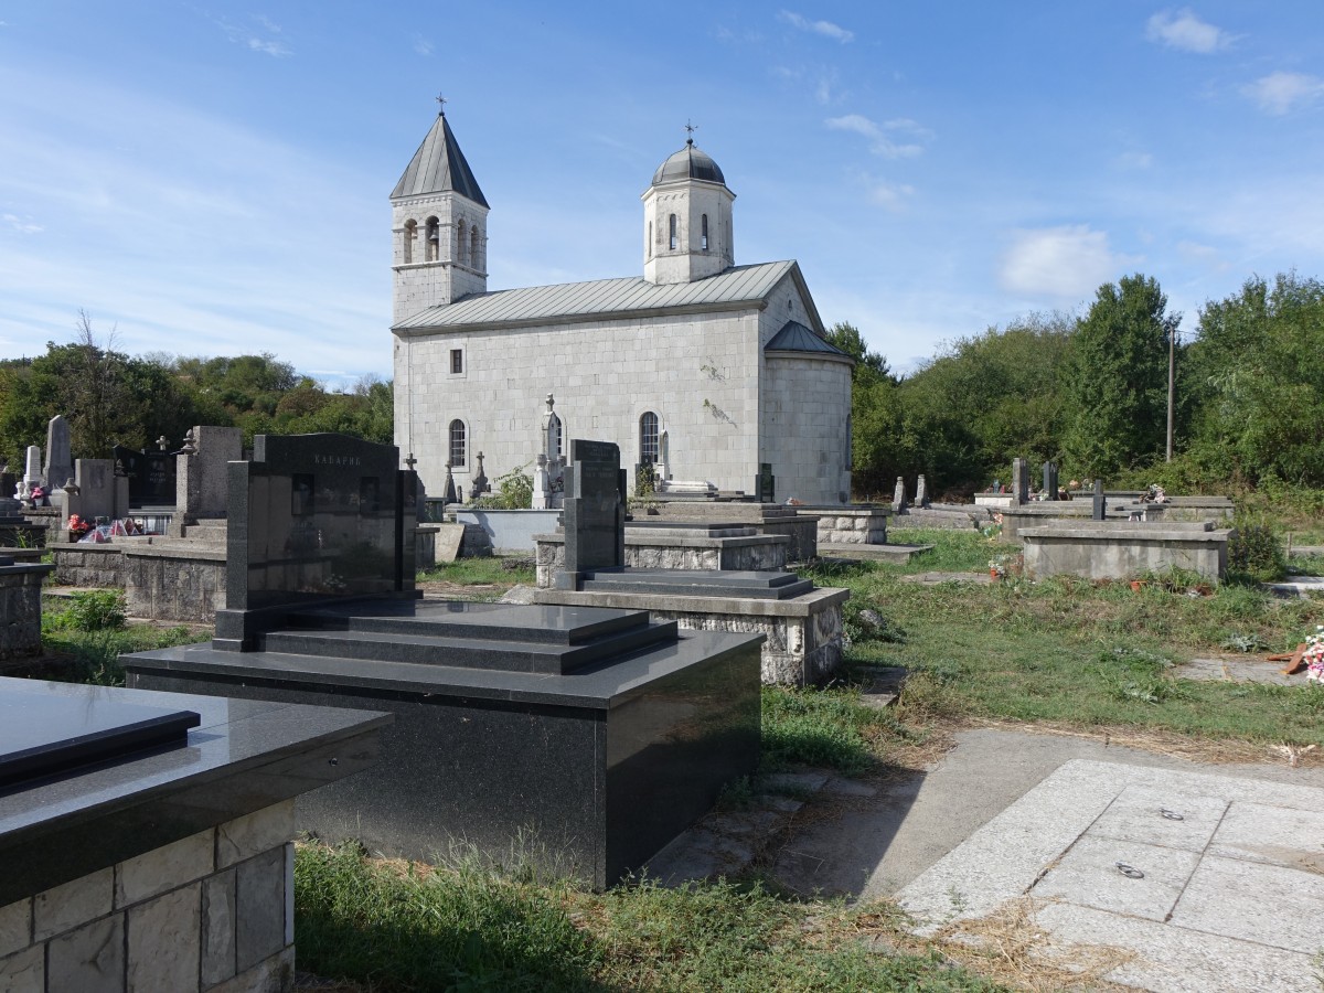
[[643,278],[688,283],[735,265],[735,199],[718,163],[687,139],[643,192]]

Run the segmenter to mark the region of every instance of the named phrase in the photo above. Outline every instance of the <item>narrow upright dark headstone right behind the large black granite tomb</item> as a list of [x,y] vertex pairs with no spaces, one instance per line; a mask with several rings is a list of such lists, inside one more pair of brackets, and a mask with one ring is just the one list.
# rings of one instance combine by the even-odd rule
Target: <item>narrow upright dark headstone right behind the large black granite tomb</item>
[[625,473],[610,441],[571,441],[565,469],[565,568],[557,589],[579,589],[587,572],[625,568]]

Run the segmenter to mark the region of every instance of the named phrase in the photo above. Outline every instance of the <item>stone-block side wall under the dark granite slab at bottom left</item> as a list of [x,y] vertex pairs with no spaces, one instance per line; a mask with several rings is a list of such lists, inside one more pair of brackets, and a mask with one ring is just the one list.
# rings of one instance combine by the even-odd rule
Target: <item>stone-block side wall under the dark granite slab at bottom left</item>
[[289,800],[0,907],[0,989],[293,989],[293,834]]

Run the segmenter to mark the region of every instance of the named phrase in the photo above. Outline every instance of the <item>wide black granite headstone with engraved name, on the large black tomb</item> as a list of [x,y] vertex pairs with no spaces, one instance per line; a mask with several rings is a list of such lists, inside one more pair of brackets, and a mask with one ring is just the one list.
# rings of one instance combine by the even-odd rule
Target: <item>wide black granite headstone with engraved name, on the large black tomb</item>
[[230,462],[218,642],[240,649],[289,608],[414,596],[417,477],[399,458],[344,434],[258,434],[253,459]]

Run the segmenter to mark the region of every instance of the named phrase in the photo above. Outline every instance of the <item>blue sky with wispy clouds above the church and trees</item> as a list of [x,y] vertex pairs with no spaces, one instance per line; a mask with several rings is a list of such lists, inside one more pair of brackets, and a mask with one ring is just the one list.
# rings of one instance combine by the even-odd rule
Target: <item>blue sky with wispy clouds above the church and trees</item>
[[0,357],[269,351],[391,375],[388,195],[446,114],[489,287],[642,271],[685,142],[736,262],[797,258],[894,367],[1141,271],[1193,330],[1324,277],[1324,12],[1301,3],[0,1]]

